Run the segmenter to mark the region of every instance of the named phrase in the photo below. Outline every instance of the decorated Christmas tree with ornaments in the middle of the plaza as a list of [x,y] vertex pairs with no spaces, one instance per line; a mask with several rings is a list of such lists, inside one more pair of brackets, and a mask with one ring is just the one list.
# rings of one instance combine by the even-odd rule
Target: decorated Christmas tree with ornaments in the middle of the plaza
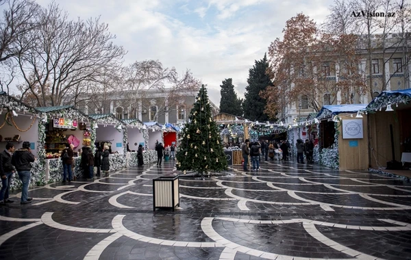
[[223,150],[219,128],[212,119],[207,90],[201,86],[190,121],[184,127],[182,142],[177,152],[177,170],[186,174],[194,170],[201,174],[220,172],[227,169],[227,159]]

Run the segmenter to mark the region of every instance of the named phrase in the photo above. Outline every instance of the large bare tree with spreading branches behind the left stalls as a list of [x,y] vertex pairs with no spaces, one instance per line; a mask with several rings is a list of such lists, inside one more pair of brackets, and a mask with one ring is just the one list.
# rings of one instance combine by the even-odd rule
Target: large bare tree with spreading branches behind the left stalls
[[21,50],[27,42],[34,46],[21,51],[17,61],[27,93],[35,96],[39,106],[61,105],[65,95],[87,94],[88,82],[121,65],[125,51],[112,42],[115,36],[99,18],[70,21],[66,12],[51,3],[40,11],[38,23],[40,27],[19,40]]

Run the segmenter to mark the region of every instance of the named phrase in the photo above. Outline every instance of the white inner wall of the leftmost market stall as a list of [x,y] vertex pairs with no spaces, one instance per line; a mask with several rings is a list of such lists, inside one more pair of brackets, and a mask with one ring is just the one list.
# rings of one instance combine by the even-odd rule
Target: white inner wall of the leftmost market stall
[[[5,110],[1,113],[0,116],[0,125],[3,124],[4,122],[4,115],[5,115]],[[16,122],[16,125],[19,129],[25,130],[29,128],[29,126],[32,124],[32,120],[30,119],[29,116],[14,116],[13,117],[14,122]],[[21,132],[14,127],[13,123],[10,122],[12,126],[8,125],[5,123],[4,127],[0,129],[0,135],[3,137],[3,139],[0,142],[0,151],[2,152],[5,149],[5,145],[7,142],[5,142],[4,138],[12,138],[14,135],[20,135],[20,143],[18,142],[12,142],[14,144],[14,147],[16,149],[21,148],[23,146],[23,142],[28,141],[28,142],[34,142],[36,145],[34,146],[33,154],[37,155],[38,147],[37,147],[37,141],[38,141],[38,118],[34,120],[34,124],[32,128],[30,128],[27,132]]]

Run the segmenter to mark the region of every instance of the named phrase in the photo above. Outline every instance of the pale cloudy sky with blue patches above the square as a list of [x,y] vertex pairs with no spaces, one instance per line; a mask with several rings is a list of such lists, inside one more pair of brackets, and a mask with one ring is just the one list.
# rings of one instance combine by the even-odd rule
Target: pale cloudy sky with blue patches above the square
[[[37,0],[47,5],[49,0]],[[249,68],[282,37],[286,21],[299,12],[321,23],[332,0],[55,0],[70,16],[101,16],[126,63],[160,60],[182,73],[190,69],[208,85],[219,106],[221,81],[232,78],[243,97]]]

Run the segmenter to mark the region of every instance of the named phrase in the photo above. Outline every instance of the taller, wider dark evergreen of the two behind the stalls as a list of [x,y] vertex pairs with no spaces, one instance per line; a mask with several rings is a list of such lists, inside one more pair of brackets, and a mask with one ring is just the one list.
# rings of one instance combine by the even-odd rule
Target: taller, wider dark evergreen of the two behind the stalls
[[266,100],[260,96],[260,91],[265,90],[267,86],[272,86],[270,77],[266,75],[266,70],[269,68],[266,54],[262,60],[257,61],[253,68],[249,69],[249,78],[245,87],[245,100],[242,103],[244,117],[253,121],[266,121],[269,116],[264,113],[266,108]]

